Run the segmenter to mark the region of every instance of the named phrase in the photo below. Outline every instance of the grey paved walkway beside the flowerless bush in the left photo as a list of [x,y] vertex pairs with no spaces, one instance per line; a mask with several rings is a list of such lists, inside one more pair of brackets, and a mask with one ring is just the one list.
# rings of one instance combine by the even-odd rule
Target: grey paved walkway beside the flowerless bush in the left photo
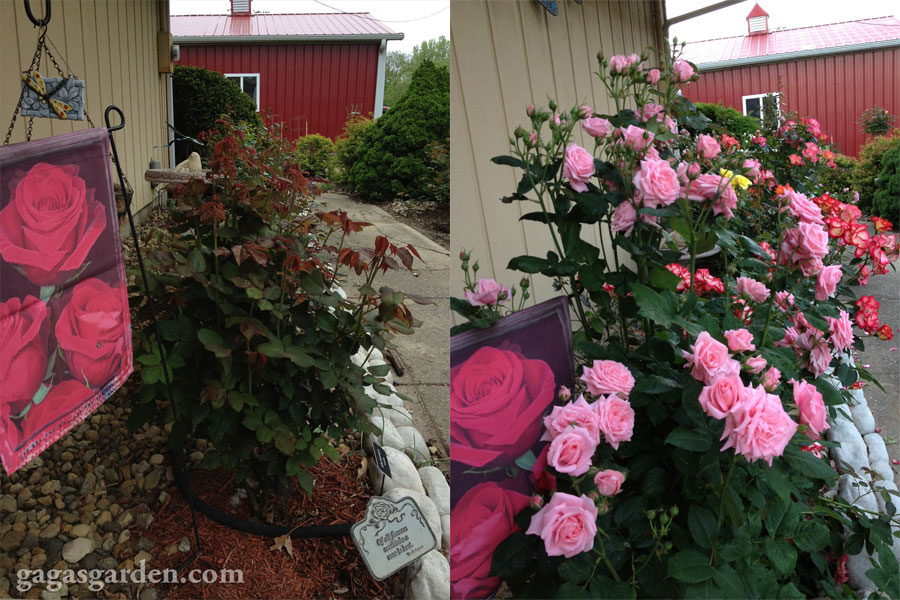
[[[409,225],[372,204],[355,202],[343,194],[324,194],[320,201],[326,210],[343,210],[354,221],[366,221],[371,227],[354,235],[355,248],[371,248],[375,237],[383,235],[398,245],[412,244],[422,256],[413,263],[413,272],[388,271],[376,284],[400,292],[423,296],[433,304],[407,301],[413,317],[422,326],[413,335],[395,335],[397,357],[404,374],[394,377],[397,390],[410,398],[407,409],[416,429],[438,449],[438,456],[450,456],[450,251],[431,241]],[[347,281],[348,287],[354,283]],[[376,285],[376,288],[378,285]],[[350,290],[347,290],[348,293]]]

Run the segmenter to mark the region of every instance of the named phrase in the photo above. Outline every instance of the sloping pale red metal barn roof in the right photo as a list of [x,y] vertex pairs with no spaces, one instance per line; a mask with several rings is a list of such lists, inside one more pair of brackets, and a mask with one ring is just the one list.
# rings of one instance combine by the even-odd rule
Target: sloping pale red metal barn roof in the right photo
[[896,17],[782,29],[767,35],[741,35],[689,42],[684,48],[684,58],[701,65],[888,40],[900,40],[900,19]]

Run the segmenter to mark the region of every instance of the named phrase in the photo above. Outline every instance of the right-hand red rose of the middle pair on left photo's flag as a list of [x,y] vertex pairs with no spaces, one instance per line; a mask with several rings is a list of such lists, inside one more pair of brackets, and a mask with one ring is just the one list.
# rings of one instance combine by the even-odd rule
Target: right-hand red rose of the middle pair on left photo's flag
[[76,285],[56,322],[56,339],[73,377],[92,388],[107,383],[122,364],[128,326],[121,287],[93,278]]

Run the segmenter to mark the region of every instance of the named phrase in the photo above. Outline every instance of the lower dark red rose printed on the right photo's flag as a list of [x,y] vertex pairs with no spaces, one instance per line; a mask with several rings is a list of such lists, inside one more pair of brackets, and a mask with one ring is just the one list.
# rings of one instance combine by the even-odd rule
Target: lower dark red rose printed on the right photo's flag
[[450,512],[450,596],[487,598],[500,585],[491,577],[494,550],[519,528],[514,518],[530,498],[490,481],[459,499]]

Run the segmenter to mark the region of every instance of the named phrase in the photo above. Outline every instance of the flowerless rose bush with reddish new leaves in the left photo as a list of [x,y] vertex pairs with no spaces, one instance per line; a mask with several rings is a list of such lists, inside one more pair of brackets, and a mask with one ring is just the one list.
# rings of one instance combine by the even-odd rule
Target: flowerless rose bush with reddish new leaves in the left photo
[[[406,297],[376,280],[411,268],[417,253],[382,236],[353,250],[352,235],[367,224],[311,212],[307,180],[277,131],[251,135],[226,120],[208,138],[212,183],[176,192],[147,258],[166,352],[163,361],[141,334],[143,388],[130,424],[177,412],[177,442],[189,432],[211,442],[205,466],[282,489],[295,477],[309,491],[305,468],[323,454],[337,458],[333,445],[348,429],[370,427],[374,401],[363,388],[386,390],[387,368],[367,371],[351,357],[385,348],[389,332],[412,332]],[[337,287],[349,271],[364,276],[353,298]],[[167,398],[164,369],[177,411],[157,404]]]

